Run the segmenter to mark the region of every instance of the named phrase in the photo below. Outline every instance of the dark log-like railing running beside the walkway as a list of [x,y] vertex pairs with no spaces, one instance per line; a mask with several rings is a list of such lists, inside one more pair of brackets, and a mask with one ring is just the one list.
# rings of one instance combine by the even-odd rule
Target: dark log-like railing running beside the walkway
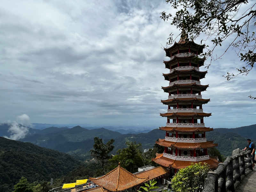
[[251,151],[238,151],[239,154],[227,157],[223,163],[219,163],[215,171],[208,172],[203,192],[235,192],[240,181],[252,172]]

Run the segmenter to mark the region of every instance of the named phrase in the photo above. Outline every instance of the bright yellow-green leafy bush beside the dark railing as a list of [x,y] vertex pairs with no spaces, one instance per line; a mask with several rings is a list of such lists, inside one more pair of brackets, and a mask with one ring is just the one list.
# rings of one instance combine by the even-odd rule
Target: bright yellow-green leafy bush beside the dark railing
[[172,178],[172,190],[174,192],[201,192],[208,171],[209,165],[203,163],[191,164],[180,169]]

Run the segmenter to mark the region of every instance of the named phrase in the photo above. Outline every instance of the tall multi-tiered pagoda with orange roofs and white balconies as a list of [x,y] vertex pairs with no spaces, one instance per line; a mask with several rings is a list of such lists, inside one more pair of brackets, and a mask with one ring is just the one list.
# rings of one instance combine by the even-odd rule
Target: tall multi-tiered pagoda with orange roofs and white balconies
[[156,154],[152,161],[172,168],[174,173],[191,163],[205,162],[210,168],[218,165],[218,161],[207,153],[207,148],[217,144],[205,138],[205,132],[212,131],[212,128],[205,127],[204,117],[211,116],[211,113],[204,113],[202,108],[210,101],[202,99],[201,95],[209,86],[200,82],[207,73],[199,70],[204,65],[204,59],[198,57],[203,48],[204,45],[187,41],[185,33],[182,33],[178,43],[164,49],[166,56],[170,57],[170,60],[164,61],[170,73],[163,76],[170,83],[162,87],[169,96],[167,100],[161,100],[168,109],[160,116],[167,117],[167,123],[165,127],[159,127],[165,131],[165,138],[156,141],[164,146],[164,153]]

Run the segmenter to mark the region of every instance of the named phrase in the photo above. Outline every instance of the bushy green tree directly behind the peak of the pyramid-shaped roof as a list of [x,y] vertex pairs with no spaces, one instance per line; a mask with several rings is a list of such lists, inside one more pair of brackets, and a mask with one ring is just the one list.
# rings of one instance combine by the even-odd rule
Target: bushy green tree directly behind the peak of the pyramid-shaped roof
[[110,166],[114,168],[120,162],[122,167],[133,173],[138,170],[138,167],[144,165],[141,143],[126,141],[125,144],[127,148],[119,149],[116,155],[109,160]]

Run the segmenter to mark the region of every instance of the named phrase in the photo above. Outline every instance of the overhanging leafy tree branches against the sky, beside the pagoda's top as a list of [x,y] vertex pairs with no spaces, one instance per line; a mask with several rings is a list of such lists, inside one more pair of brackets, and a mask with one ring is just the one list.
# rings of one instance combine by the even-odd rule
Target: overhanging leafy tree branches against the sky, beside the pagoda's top
[[[170,20],[171,25],[180,31],[184,29],[193,40],[203,34],[206,41],[212,41],[202,56],[210,61],[220,59],[229,48],[236,50],[237,56],[244,63],[236,68],[237,72],[227,73],[229,81],[239,74],[247,75],[256,61],[255,16],[256,2],[248,0],[165,0],[175,10],[175,14],[161,13],[163,20]],[[184,36],[185,37],[185,36]],[[175,40],[173,34],[168,38],[167,46]],[[215,53],[217,46],[224,45],[224,51]],[[215,56],[216,55],[216,56]],[[211,65],[208,65],[208,67]],[[251,99],[255,97],[249,96]]]

